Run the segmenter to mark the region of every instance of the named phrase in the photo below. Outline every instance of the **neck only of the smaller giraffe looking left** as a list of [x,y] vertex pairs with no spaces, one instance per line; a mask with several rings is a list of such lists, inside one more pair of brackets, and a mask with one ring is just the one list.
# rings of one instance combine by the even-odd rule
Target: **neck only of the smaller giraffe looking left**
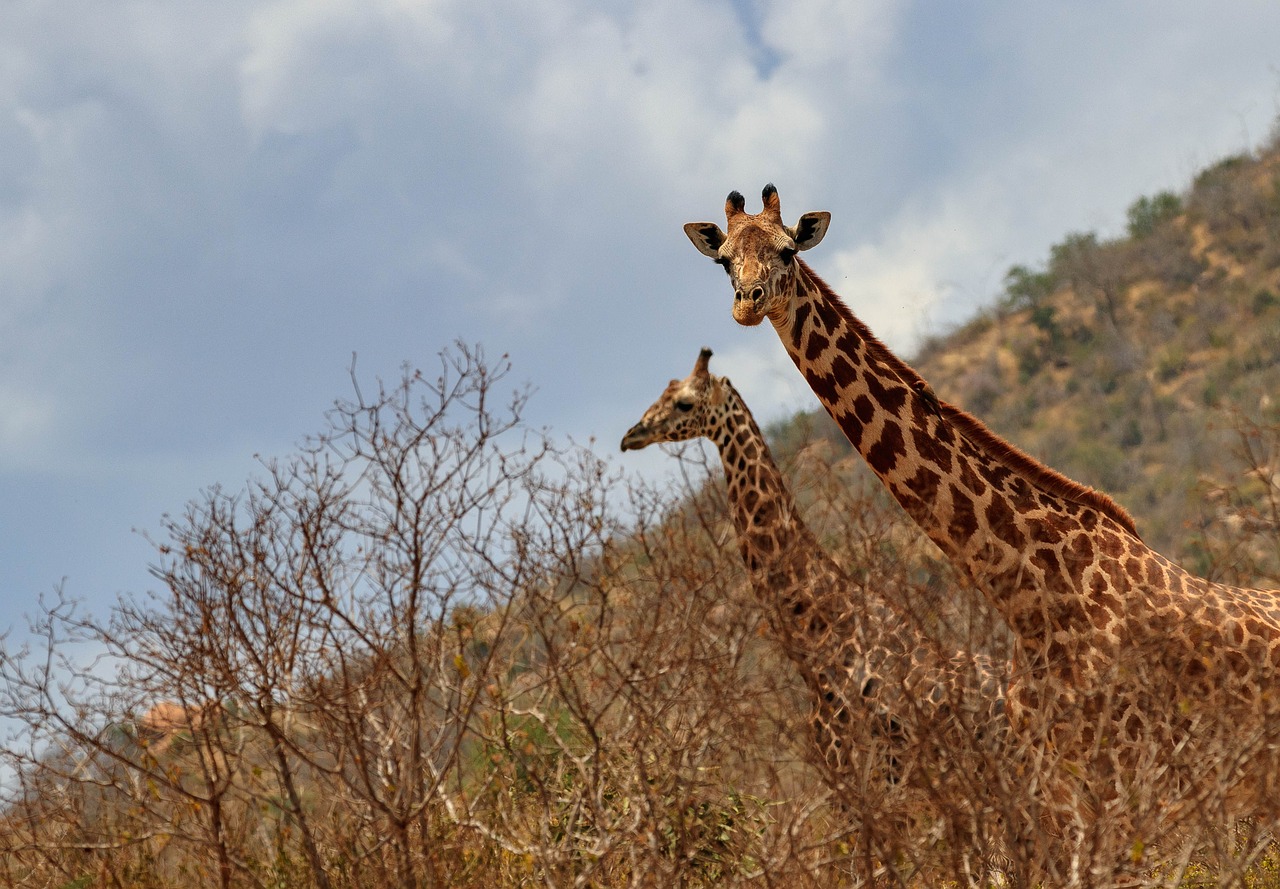
[[884,600],[864,596],[822,549],[751,412],[727,380],[724,388],[726,413],[708,437],[724,467],[730,512],[756,595],[774,606],[792,641],[838,633],[841,643],[860,645],[896,637],[901,615]]

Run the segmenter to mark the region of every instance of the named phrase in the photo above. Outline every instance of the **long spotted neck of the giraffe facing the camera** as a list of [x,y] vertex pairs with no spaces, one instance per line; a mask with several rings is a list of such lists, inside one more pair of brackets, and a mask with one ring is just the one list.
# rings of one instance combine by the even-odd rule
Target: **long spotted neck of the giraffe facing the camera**
[[[938,402],[803,261],[792,267],[788,312],[771,321],[872,471],[1024,643],[1064,617],[1087,633],[1083,574],[1100,541],[1146,550],[1132,519]],[[1071,545],[1080,551],[1064,553]]]

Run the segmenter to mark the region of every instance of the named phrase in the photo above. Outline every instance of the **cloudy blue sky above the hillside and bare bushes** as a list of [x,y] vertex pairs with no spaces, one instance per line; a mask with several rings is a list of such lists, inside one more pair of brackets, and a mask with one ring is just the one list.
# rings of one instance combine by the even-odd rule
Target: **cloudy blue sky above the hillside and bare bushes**
[[832,211],[810,261],[909,353],[1267,138],[1276,47],[1262,0],[6,0],[0,628],[152,588],[137,532],[320,430],[353,353],[508,352],[607,454],[701,345],[808,409],[682,223]]

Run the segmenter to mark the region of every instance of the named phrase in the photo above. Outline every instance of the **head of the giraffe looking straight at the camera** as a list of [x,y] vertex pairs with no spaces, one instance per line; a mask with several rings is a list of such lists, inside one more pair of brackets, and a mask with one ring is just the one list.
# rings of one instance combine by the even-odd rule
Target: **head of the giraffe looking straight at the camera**
[[818,211],[803,215],[795,225],[783,225],[778,189],[768,184],[763,197],[764,210],[753,216],[742,208],[742,196],[730,192],[724,201],[728,233],[716,223],[685,225],[694,247],[728,272],[733,320],[746,326],[786,311],[790,288],[783,284],[795,274],[796,252],[817,246],[831,224],[831,214]]

